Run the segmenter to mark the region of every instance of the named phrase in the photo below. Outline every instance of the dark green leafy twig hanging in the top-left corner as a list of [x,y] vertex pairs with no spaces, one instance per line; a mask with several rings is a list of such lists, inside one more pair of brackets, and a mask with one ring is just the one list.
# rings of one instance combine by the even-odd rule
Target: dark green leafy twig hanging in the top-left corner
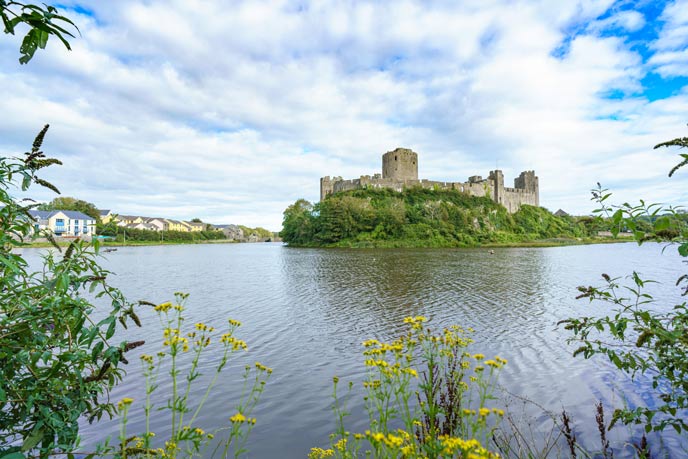
[[38,48],[45,49],[51,35],[57,37],[68,50],[71,50],[66,37],[74,38],[74,34],[64,27],[73,27],[79,32],[79,28],[69,18],[59,15],[55,7],[45,4],[38,6],[0,0],[0,17],[7,34],[14,35],[20,24],[29,26],[29,31],[19,48],[21,64],[29,62]]

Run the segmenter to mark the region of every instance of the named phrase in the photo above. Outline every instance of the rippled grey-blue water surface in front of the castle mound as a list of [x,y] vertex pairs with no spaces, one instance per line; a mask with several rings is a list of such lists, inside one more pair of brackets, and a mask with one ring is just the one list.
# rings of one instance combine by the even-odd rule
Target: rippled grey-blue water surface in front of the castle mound
[[[37,262],[39,251],[26,255]],[[238,396],[238,374],[255,360],[274,368],[255,415],[250,457],[305,457],[312,446],[325,446],[334,430],[330,411],[332,376],[360,381],[360,343],[368,338],[396,338],[402,319],[425,315],[435,327],[473,327],[475,350],[509,360],[501,382],[506,390],[558,412],[566,407],[579,420],[579,438],[595,434],[593,405],[618,406],[619,391],[636,403],[648,386],[632,385],[599,359],[571,357],[567,333],[559,320],[591,313],[576,301],[578,285],[599,284],[600,274],[629,274],[631,269],[664,282],[653,286],[663,300],[677,301],[674,289],[681,260],[657,244],[577,246],[544,249],[327,250],[292,249],[278,244],[222,244],[120,248],[108,254],[112,283],[131,299],[163,302],[175,291],[191,294],[187,323],[244,323],[240,335],[250,353],[219,384],[220,396],[200,417],[206,430],[227,425]],[[632,267],[632,268],[631,268]],[[673,303],[672,303],[673,304]],[[143,330],[121,338],[144,338],[137,353],[155,353],[161,345],[152,310],[140,314]],[[203,362],[210,369],[215,358]],[[115,389],[115,400],[141,400],[141,370],[130,359],[128,375]],[[164,390],[165,386],[161,387]],[[203,389],[202,384],[197,390]],[[360,387],[356,386],[360,393]],[[193,393],[193,397],[200,393]],[[350,408],[352,431],[363,429],[362,401]],[[142,414],[131,412],[130,431],[141,427]],[[611,413],[611,411],[610,411]],[[537,416],[537,410],[529,413]],[[536,427],[545,418],[540,416]],[[154,419],[153,430],[166,425]],[[117,435],[117,424],[104,421],[83,428],[86,444]],[[594,442],[596,440],[591,440]],[[596,445],[597,443],[591,443]]]

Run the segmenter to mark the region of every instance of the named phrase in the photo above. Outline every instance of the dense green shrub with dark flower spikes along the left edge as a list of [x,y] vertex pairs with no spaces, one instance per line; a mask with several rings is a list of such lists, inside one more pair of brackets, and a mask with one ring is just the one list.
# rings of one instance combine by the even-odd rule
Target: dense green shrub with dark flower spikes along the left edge
[[[37,175],[57,163],[40,151],[47,129],[24,158],[0,158],[0,457],[70,451],[80,417],[114,412],[108,391],[121,378],[125,353],[141,344],[111,341],[118,324],[139,319],[107,284],[97,245],[75,240],[64,253],[56,246],[37,272],[14,251],[33,233],[35,204],[11,192],[32,184],[56,189]],[[103,304],[99,320],[85,293]]]

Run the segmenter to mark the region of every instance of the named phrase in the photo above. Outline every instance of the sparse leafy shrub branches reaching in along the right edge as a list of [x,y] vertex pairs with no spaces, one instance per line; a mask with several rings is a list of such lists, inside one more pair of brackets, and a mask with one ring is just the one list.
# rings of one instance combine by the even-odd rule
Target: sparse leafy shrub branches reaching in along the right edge
[[[675,139],[657,145],[688,146],[686,139]],[[686,164],[683,160],[670,175]],[[631,231],[641,244],[647,240],[671,239],[682,257],[688,256],[688,225],[686,215],[671,207],[659,204],[638,205],[624,203],[609,205],[611,193],[599,184],[593,190],[593,200],[599,205],[598,215],[604,215],[610,231],[618,234],[622,229]],[[601,217],[600,217],[600,220]],[[688,429],[688,307],[680,302],[671,307],[659,305],[645,288],[652,282],[633,272],[630,285],[620,278],[602,275],[602,287],[579,287],[579,298],[606,303],[614,314],[604,317],[581,317],[563,321],[571,330],[572,342],[579,343],[574,355],[585,358],[606,356],[617,368],[636,377],[645,374],[652,379],[658,400],[653,406],[617,409],[612,425],[623,423],[644,424],[647,432],[661,431],[667,427],[677,432]],[[678,276],[676,285],[682,295],[688,293],[688,274]]]

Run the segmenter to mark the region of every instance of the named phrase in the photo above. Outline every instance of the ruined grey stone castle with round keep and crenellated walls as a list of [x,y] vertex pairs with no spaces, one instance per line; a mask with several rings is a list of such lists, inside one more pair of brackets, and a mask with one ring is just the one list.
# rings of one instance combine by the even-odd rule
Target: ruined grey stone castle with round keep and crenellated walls
[[514,179],[514,187],[504,186],[504,174],[501,170],[490,171],[483,179],[479,175],[468,178],[467,182],[438,182],[418,180],[418,154],[408,148],[397,148],[382,155],[382,174],[362,175],[353,180],[329,176],[320,179],[320,200],[330,194],[360,188],[392,188],[402,191],[404,188],[420,186],[423,188],[457,190],[472,196],[489,196],[503,205],[510,213],[516,212],[522,204],[540,205],[540,186],[535,171],[521,172]]

